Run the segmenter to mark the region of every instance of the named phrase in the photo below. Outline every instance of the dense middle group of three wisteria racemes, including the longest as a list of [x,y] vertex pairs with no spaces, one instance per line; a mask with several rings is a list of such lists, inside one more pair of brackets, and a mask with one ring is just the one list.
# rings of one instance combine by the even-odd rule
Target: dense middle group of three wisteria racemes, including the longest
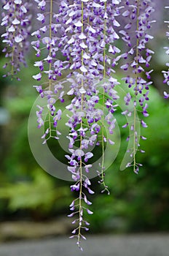
[[[66,158],[68,171],[76,182],[71,186],[71,191],[79,192],[79,227],[75,229],[76,232],[74,231],[78,243],[82,230],[82,201],[86,203],[82,188],[92,193],[87,178],[87,173],[92,167],[92,164],[88,163],[93,157],[91,147],[100,143],[104,146],[105,120],[109,124],[110,133],[113,133],[115,127],[113,113],[117,108],[115,101],[119,97],[115,87],[119,82],[112,78],[115,72],[112,56],[117,58],[120,53],[116,45],[119,39],[116,32],[119,27],[117,16],[122,8],[119,7],[120,2],[74,0],[71,3],[63,0],[60,1],[58,13],[54,13],[55,1],[50,1],[50,4],[46,1],[36,1],[39,7],[37,20],[41,25],[32,34],[36,37],[32,45],[39,59],[34,64],[39,67],[39,73],[33,78],[40,83],[43,78],[48,80],[47,89],[43,88],[46,83],[36,86],[41,97],[47,99],[49,109],[49,127],[43,138],[52,137],[52,127],[56,129],[61,118],[61,111],[55,108],[55,95],[59,94],[58,98],[64,102],[64,83],[69,86],[67,95],[73,98],[71,104],[66,105],[69,111],[66,126],[69,128],[67,138],[70,152]],[[42,57],[44,50],[46,56]],[[59,53],[62,53],[64,60],[58,59]],[[117,61],[118,58],[116,63]],[[64,71],[69,71],[66,80],[55,82]],[[103,105],[99,105],[101,100]],[[37,117],[38,127],[43,126],[43,109],[37,111]],[[98,173],[101,184],[106,188],[103,181],[103,165],[102,159],[101,170],[98,170]],[[87,209],[87,212],[90,210]]]

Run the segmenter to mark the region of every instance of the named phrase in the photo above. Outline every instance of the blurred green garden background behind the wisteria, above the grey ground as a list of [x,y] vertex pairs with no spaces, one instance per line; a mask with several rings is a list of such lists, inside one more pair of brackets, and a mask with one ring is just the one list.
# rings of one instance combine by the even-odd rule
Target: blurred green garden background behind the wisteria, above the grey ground
[[[95,195],[87,216],[90,233],[152,233],[169,231],[169,102],[163,99],[168,86],[162,83],[162,69],[167,56],[164,46],[168,15],[157,2],[152,59],[153,86],[149,99],[148,128],[141,143],[146,153],[138,154],[143,164],[135,175],[128,168],[119,171],[126,149],[127,130],[121,129],[122,143],[115,162],[106,171],[106,184],[111,194],[101,194],[98,178],[93,179]],[[1,28],[0,33],[3,32]],[[0,44],[2,50],[3,45]],[[28,144],[28,116],[36,97],[34,80],[34,52],[28,54],[28,68],[20,72],[21,82],[2,78],[6,62],[0,50],[0,241],[16,238],[35,238],[70,233],[66,215],[74,198],[71,182],[50,176],[36,163]],[[121,77],[117,70],[117,78]],[[116,113],[119,127],[124,124],[120,110]],[[57,148],[53,148],[57,151]],[[56,167],[57,168],[57,167]],[[20,227],[21,224],[21,227]],[[36,225],[36,234],[34,233]],[[47,225],[43,228],[43,225]]]

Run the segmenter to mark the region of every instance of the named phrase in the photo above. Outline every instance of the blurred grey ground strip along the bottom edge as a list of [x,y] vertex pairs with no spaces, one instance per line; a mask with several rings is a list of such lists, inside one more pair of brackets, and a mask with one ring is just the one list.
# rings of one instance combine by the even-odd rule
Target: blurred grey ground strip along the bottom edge
[[0,256],[168,256],[169,234],[87,236],[84,252],[67,237],[0,244]]

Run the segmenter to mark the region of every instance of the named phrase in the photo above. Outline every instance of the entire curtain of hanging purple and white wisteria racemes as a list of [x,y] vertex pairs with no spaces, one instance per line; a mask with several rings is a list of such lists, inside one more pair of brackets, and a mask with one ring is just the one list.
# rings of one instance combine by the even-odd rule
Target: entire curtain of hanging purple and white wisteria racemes
[[[117,93],[120,86],[115,74],[117,67],[121,69],[122,80],[128,88],[124,97],[126,108],[122,115],[132,117],[130,123],[123,125],[123,128],[127,127],[131,131],[127,140],[133,141],[128,150],[133,161],[128,162],[126,167],[133,166],[134,172],[138,173],[141,166],[136,162],[135,155],[138,150],[144,152],[139,140],[146,138],[138,135],[137,126],[139,121],[146,128],[144,118],[149,116],[147,102],[153,71],[150,61],[154,51],[147,43],[153,38],[149,31],[154,23],[154,4],[151,0],[34,2],[2,0],[1,26],[6,31],[1,37],[7,45],[3,52],[9,60],[5,67],[10,64],[7,75],[16,77],[20,63],[25,64],[25,50],[28,50],[31,31],[31,7],[34,6],[38,23],[36,31],[31,31],[31,45],[36,52],[34,66],[39,68],[33,76],[39,81],[34,87],[40,97],[46,100],[48,110],[46,118],[44,106],[37,106],[38,128],[44,127],[42,143],[47,143],[50,138],[60,139],[62,131],[58,123],[63,116],[63,108],[58,108],[56,96],[60,102],[64,102],[67,94],[71,102],[66,104],[68,121],[65,125],[69,129],[69,143],[65,157],[68,172],[74,181],[71,191],[78,195],[70,205],[71,214],[68,216],[74,217],[72,223],[76,225],[71,238],[77,238],[76,244],[82,249],[81,238],[86,239],[84,230],[89,230],[84,213],[93,214],[89,208],[92,203],[87,198],[94,193],[88,177],[93,167],[93,146],[101,146],[101,162],[95,171],[102,192],[109,194],[104,180],[104,148],[106,143],[113,145],[114,141],[105,135],[104,124],[113,134],[116,126],[114,112],[117,110],[117,99],[121,97]],[[169,48],[166,48],[166,53],[169,54]],[[168,84],[169,71],[163,73],[164,82]],[[61,80],[63,77],[66,78]],[[67,85],[69,88],[65,93]],[[165,97],[169,97],[166,92]],[[131,101],[132,109],[129,108]],[[139,120],[136,120],[136,113],[139,113]]]

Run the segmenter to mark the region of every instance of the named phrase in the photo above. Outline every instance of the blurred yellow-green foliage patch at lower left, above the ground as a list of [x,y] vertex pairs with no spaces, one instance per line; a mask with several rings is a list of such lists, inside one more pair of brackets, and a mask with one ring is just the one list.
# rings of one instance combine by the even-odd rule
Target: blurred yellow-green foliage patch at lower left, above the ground
[[[9,211],[36,210],[39,217],[47,217],[52,211],[60,211],[70,200],[68,187],[55,187],[54,179],[42,170],[34,170],[32,180],[17,181],[0,188],[0,198],[8,200]],[[63,200],[64,198],[64,200]]]

